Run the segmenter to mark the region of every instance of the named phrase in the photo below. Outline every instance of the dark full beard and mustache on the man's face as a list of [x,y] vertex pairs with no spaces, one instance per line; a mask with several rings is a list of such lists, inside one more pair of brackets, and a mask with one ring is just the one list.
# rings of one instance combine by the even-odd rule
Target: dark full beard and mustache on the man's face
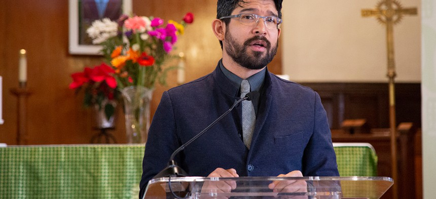
[[[227,29],[228,30],[228,29]],[[276,45],[271,47],[271,42],[268,41],[265,37],[261,36],[253,36],[247,39],[242,45],[238,44],[235,39],[230,35],[230,33],[226,30],[226,52],[227,54],[235,61],[237,64],[251,70],[259,70],[268,65],[275,54],[277,53],[278,48],[278,38]],[[258,52],[252,51],[248,52],[248,46],[252,41],[263,40],[266,42],[266,46],[264,46],[267,51],[266,52]],[[266,55],[263,55],[266,53]]]

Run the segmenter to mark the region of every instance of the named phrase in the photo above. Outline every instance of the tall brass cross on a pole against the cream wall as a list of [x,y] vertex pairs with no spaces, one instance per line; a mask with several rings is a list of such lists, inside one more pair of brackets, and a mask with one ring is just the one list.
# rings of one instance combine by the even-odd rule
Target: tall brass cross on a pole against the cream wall
[[[362,17],[377,17],[377,20],[386,25],[387,42],[387,77],[389,78],[389,126],[390,149],[392,157],[392,179],[397,182],[396,162],[396,126],[395,126],[395,61],[393,51],[393,25],[399,23],[404,15],[416,15],[416,8],[403,8],[395,0],[384,0],[377,4],[376,9],[363,9]],[[393,184],[393,198],[398,198],[397,183]]]

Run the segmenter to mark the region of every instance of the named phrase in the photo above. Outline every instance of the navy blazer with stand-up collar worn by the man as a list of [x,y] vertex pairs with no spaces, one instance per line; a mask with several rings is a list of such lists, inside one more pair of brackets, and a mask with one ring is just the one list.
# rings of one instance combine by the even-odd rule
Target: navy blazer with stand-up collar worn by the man
[[[140,195],[177,147],[240,98],[238,89],[217,66],[212,73],[163,93],[146,144]],[[242,106],[238,106],[175,161],[190,176],[207,176],[218,167],[234,168],[239,176],[277,176],[294,170],[304,176],[339,176],[318,93],[267,71],[258,103],[250,150],[239,136]]]

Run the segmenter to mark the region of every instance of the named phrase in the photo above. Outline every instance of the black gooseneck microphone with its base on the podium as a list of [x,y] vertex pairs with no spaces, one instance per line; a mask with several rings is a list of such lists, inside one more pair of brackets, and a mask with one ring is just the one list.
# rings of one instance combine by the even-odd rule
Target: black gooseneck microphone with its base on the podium
[[198,137],[203,135],[206,131],[208,131],[210,128],[212,128],[216,123],[218,123],[221,119],[223,119],[224,116],[229,114],[233,110],[233,108],[235,108],[236,105],[238,105],[240,102],[242,102],[244,100],[251,101],[251,100],[253,100],[254,98],[257,98],[257,97],[259,97],[259,92],[255,90],[255,91],[251,91],[251,92],[247,93],[245,95],[245,97],[242,97],[242,98],[240,98],[240,100],[238,100],[235,103],[233,103],[232,107],[230,107],[230,109],[227,110],[223,115],[221,115],[219,118],[217,118],[211,124],[209,124],[209,126],[207,126],[205,129],[203,129],[200,133],[195,135],[193,138],[188,140],[186,143],[184,143],[180,147],[178,147],[171,154],[171,157],[170,157],[169,162],[168,162],[168,166],[164,170],[159,172],[155,177],[153,177],[153,179],[161,178],[161,177],[185,177],[185,176],[187,176],[188,174],[182,168],[177,166],[177,164],[175,163],[175,161],[174,161],[175,155],[177,155],[181,150],[184,150],[184,148],[186,146],[188,146],[191,142],[193,142]]

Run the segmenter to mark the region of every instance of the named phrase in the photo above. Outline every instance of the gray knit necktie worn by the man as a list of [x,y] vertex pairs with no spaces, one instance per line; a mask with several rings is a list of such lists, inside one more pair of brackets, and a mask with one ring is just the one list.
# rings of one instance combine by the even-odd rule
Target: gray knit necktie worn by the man
[[[241,82],[241,97],[250,92],[250,83],[244,79]],[[244,144],[250,149],[251,138],[253,137],[253,130],[255,130],[256,113],[255,107],[251,101],[242,101],[242,134],[244,138]]]

